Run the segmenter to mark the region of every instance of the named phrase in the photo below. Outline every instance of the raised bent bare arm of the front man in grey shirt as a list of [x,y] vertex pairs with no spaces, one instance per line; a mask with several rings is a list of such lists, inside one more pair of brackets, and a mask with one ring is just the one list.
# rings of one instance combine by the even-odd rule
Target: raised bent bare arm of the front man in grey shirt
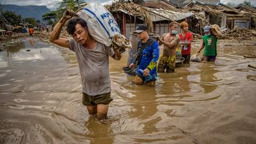
[[60,45],[61,47],[69,47],[67,38],[60,38],[61,28],[64,26],[65,22],[70,19],[72,16],[72,11],[66,11],[61,19],[54,26],[54,29],[50,36],[50,42]]

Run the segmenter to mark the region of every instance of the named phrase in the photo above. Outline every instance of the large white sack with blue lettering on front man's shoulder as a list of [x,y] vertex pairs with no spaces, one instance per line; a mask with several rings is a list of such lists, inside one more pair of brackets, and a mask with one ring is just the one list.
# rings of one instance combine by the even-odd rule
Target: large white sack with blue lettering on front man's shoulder
[[118,52],[131,48],[131,42],[121,35],[115,18],[102,4],[88,3],[76,15],[87,22],[90,35],[98,42]]

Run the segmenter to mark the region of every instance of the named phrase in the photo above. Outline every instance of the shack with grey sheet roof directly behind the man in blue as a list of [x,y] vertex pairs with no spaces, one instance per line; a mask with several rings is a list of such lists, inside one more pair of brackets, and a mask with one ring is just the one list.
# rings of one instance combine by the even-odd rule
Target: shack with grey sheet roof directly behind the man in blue
[[[162,6],[165,3],[165,6]],[[163,8],[159,8],[159,7]],[[171,21],[181,22],[193,15],[191,12],[179,12],[166,1],[147,1],[142,5],[135,3],[113,3],[106,8],[116,18],[122,34],[129,38],[136,24],[145,23],[150,33],[163,35],[169,31]]]

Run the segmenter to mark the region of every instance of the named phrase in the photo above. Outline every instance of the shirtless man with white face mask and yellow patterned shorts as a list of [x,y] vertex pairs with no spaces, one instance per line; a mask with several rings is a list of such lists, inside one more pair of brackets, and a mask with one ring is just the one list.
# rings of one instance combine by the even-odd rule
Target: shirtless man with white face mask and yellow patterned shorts
[[164,45],[163,55],[159,58],[159,65],[157,67],[158,72],[174,72],[175,70],[175,54],[176,49],[179,46],[180,38],[178,33],[178,24],[171,22],[169,24],[169,33],[164,35],[159,40],[159,45]]

